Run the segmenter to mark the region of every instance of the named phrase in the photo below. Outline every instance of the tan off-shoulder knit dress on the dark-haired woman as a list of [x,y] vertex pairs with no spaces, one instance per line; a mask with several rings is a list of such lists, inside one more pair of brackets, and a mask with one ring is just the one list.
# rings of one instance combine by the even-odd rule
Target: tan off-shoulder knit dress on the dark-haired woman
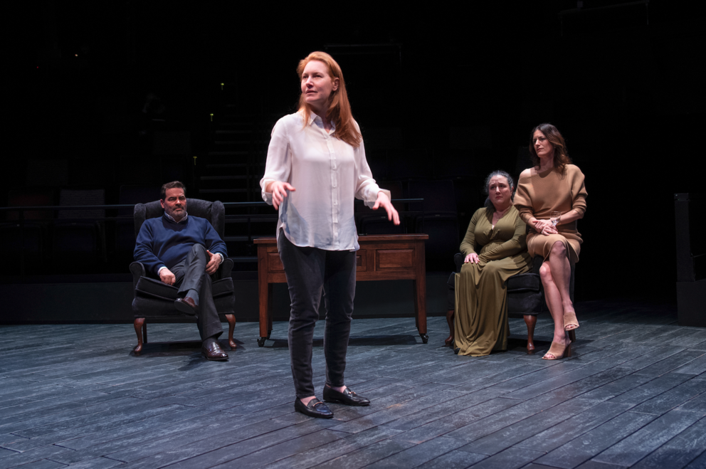
[[564,174],[552,168],[541,173],[534,172],[530,176],[520,175],[520,181],[517,181],[515,207],[520,211],[522,220],[530,226],[530,232],[527,233],[527,250],[532,257],[541,255],[547,259],[552,246],[559,241],[567,248],[571,263],[579,261],[583,240],[581,233],[576,231],[576,221],[560,224],[557,226],[558,234],[545,236],[534,230],[530,218],[534,216],[539,220],[549,219],[552,211],[566,214],[571,210],[576,210],[584,216],[587,195],[584,173],[574,164],[567,164]]

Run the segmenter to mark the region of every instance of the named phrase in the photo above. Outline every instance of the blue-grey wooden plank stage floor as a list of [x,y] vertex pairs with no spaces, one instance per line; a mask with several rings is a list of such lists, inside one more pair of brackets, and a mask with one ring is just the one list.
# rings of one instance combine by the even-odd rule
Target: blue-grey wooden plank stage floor
[[225,363],[198,343],[134,357],[132,325],[3,326],[0,468],[705,468],[706,329],[628,301],[583,302],[579,320],[574,357],[554,362],[548,315],[537,354],[511,320],[510,350],[480,358],[441,347],[443,317],[428,344],[413,318],[354,320],[347,384],[372,404],[331,404],[332,420],[293,410],[285,322],[263,348],[238,324]]

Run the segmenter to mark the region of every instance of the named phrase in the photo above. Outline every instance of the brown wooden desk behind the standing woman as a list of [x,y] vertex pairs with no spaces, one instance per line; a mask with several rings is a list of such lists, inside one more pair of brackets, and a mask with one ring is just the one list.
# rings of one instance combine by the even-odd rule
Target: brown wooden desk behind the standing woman
[[[428,342],[426,334],[426,265],[424,241],[426,234],[359,236],[360,250],[356,253],[356,280],[412,280],[414,292],[414,315],[422,342]],[[272,284],[287,283],[285,270],[277,251],[275,238],[257,238],[258,245],[258,290],[260,297],[260,339],[272,332]]]

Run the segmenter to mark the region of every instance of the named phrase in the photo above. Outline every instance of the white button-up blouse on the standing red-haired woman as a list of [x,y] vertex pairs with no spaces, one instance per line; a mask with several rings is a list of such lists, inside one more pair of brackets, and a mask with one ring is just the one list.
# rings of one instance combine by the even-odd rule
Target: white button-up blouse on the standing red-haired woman
[[[381,190],[372,178],[361,142],[358,148],[332,137],[321,117],[312,113],[306,126],[300,112],[285,115],[272,130],[265,174],[260,180],[263,200],[272,205],[265,188],[286,181],[290,191],[279,209],[280,228],[295,246],[326,251],[356,251],[353,201],[372,207]],[[389,196],[389,191],[385,191]]]

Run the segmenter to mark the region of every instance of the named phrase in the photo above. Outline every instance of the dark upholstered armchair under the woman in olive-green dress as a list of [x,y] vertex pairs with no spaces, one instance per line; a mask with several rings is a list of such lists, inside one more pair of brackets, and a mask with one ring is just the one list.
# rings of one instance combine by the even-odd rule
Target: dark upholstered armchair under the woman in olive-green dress
[[[480,251],[480,250],[479,250]],[[463,265],[463,254],[456,253],[453,261],[456,271],[460,272]],[[523,317],[527,324],[527,353],[534,353],[534,325],[537,324],[537,315],[547,312],[547,304],[544,302],[544,288],[542,280],[539,278],[539,268],[542,267],[544,258],[537,255],[532,259],[532,272],[513,275],[507,279],[507,315],[509,317]],[[569,295],[571,301],[574,300],[574,270],[575,265],[571,264],[571,280],[569,280]],[[448,312],[446,321],[453,335],[453,315],[455,311],[455,272],[451,273],[448,279]],[[576,340],[576,331],[569,331],[571,342]]]

